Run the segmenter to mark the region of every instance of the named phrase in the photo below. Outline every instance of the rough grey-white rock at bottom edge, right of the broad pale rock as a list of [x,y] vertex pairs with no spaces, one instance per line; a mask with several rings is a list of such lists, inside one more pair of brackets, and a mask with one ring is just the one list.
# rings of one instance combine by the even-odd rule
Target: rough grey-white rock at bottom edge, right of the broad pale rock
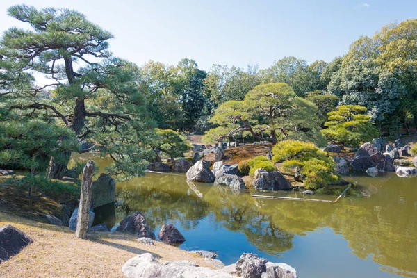
[[266,272],[265,259],[259,258],[252,253],[243,253],[236,262],[236,272],[243,278],[261,278],[262,273]]

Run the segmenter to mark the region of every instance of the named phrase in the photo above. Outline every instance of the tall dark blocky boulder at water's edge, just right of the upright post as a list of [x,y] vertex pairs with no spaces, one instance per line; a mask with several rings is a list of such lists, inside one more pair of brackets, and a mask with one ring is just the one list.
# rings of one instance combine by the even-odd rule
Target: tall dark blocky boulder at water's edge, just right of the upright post
[[108,174],[100,174],[91,185],[91,201],[93,208],[115,202],[116,181]]

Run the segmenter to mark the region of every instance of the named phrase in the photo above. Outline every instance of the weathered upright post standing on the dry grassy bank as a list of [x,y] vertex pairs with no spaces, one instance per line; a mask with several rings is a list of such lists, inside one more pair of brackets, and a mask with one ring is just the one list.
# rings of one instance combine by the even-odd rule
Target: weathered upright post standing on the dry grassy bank
[[83,170],[79,213],[76,220],[75,235],[79,238],[85,238],[88,231],[88,222],[90,220],[91,183],[93,174],[94,162],[88,161]]

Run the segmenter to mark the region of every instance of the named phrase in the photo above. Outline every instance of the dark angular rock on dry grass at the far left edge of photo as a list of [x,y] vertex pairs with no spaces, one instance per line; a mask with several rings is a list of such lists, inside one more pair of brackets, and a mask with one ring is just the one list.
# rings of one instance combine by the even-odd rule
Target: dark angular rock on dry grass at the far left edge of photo
[[0,263],[15,256],[33,240],[10,224],[0,227]]

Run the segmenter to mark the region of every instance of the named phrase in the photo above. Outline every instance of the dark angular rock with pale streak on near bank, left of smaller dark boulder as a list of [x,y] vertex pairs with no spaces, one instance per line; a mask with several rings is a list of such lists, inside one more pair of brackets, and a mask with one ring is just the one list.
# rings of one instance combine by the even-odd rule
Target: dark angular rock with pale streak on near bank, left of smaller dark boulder
[[136,213],[124,218],[116,231],[134,234],[140,238],[145,237],[155,239],[155,234],[147,225],[145,215],[140,211],[136,211]]

